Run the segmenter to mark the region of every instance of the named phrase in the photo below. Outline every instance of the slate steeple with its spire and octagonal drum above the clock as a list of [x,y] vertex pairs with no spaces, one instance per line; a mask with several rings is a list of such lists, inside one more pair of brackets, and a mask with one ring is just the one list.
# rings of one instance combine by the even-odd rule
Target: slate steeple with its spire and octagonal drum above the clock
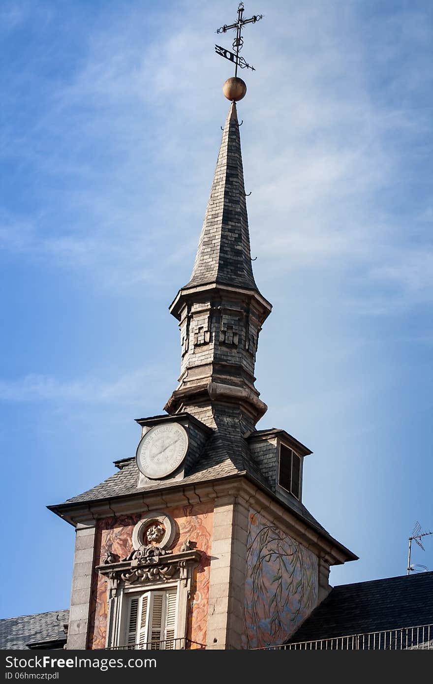
[[252,274],[239,122],[232,101],[192,276],[170,306],[180,322],[182,362],[179,386],[166,410],[199,412],[203,419],[205,406],[214,413],[216,406],[235,404],[254,429],[267,408],[254,387],[254,363],[271,308]]

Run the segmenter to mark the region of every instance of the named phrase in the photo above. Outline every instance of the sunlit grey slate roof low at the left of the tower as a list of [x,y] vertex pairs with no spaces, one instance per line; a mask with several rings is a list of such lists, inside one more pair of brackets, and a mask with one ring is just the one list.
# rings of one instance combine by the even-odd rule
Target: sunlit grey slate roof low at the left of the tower
[[27,644],[66,642],[63,625],[68,619],[68,610],[53,610],[0,620],[0,649],[25,649],[29,648]]

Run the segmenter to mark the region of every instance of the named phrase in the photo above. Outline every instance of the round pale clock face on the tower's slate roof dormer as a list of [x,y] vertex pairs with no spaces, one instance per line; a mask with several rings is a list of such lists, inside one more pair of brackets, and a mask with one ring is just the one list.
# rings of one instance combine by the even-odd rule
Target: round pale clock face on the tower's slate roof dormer
[[187,450],[188,435],[182,425],[155,425],[137,447],[138,469],[150,479],[161,479],[180,466]]

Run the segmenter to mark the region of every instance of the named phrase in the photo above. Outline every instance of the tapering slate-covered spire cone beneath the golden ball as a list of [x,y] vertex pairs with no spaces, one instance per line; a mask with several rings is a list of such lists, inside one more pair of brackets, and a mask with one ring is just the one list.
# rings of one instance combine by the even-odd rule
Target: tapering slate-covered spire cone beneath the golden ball
[[191,280],[255,289],[236,104],[226,118]]

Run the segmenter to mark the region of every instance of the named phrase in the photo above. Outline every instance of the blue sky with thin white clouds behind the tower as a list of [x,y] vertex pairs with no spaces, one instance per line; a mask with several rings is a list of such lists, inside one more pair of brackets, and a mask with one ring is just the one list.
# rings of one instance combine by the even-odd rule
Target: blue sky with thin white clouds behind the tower
[[[176,385],[168,304],[228,109],[214,31],[236,6],[1,4],[3,617],[68,606],[74,532],[44,507],[133,456],[134,419]],[[304,503],[360,556],[331,583],[402,575],[415,521],[433,529],[433,5],[246,2],[259,12],[238,108],[274,304],[259,427],[314,452]],[[433,537],[413,562],[433,569]]]

